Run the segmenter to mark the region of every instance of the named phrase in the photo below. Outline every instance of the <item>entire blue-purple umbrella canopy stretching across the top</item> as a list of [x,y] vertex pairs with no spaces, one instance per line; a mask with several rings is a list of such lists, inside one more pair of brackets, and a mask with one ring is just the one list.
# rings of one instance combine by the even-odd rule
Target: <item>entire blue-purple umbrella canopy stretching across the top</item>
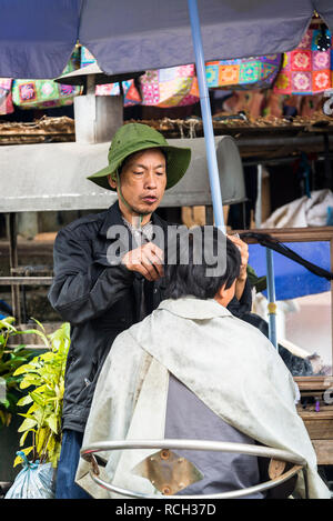
[[[140,6],[140,8],[139,8]],[[294,49],[332,0],[199,0],[206,60]],[[108,74],[194,62],[186,0],[2,0],[0,77],[56,78],[77,41]]]

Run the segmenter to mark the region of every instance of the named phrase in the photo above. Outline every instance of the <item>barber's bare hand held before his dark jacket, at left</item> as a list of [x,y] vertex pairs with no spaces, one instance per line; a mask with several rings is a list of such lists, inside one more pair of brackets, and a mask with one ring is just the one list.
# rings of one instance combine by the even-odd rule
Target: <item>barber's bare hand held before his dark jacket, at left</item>
[[129,251],[121,262],[128,270],[138,271],[147,280],[153,281],[163,277],[163,251],[153,242]]

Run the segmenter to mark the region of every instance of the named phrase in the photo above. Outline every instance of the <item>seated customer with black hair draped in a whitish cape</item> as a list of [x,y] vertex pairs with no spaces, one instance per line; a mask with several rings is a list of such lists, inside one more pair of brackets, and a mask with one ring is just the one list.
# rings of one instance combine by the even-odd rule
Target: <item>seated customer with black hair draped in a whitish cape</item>
[[[290,371],[264,334],[226,309],[235,291],[240,252],[214,228],[210,248],[218,251],[219,241],[224,241],[225,271],[212,273],[204,232],[202,228],[200,262],[198,237],[189,233],[188,262],[179,261],[181,250],[176,263],[165,261],[168,299],[114,341],[98,380],[83,448],[102,441],[172,438],[259,443],[302,457],[310,498],[330,498],[295,409]],[[255,457],[175,450],[176,457],[191,463],[191,479],[185,473],[189,479],[167,482],[167,489],[164,480],[161,488],[149,467],[157,452],[99,453],[105,463],[100,478],[143,494],[179,495],[213,494],[261,482]],[[81,458],[79,485],[94,498],[121,498],[94,483],[89,468]],[[296,494],[304,497],[302,473]]]

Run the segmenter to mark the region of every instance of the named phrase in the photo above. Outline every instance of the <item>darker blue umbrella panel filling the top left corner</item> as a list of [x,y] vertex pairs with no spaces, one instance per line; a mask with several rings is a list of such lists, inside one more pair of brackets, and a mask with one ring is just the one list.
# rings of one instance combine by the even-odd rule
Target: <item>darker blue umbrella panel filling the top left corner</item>
[[81,0],[1,0],[0,77],[57,78],[74,49]]

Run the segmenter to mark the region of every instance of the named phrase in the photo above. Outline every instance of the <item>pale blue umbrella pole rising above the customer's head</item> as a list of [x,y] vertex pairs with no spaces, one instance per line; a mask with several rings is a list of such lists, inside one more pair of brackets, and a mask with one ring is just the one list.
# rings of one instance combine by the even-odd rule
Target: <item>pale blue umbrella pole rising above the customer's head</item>
[[209,97],[209,90],[206,86],[205,77],[205,63],[203,57],[203,47],[201,38],[201,29],[199,21],[198,3],[196,0],[188,0],[189,14],[192,29],[192,40],[195,56],[196,77],[200,92],[200,104],[203,122],[203,132],[206,147],[206,160],[208,170],[210,177],[210,187],[212,193],[213,212],[215,226],[225,231],[224,218],[223,218],[223,206],[222,206],[222,193],[220,186],[220,176],[218,168],[215,139],[212,123],[212,111]]

